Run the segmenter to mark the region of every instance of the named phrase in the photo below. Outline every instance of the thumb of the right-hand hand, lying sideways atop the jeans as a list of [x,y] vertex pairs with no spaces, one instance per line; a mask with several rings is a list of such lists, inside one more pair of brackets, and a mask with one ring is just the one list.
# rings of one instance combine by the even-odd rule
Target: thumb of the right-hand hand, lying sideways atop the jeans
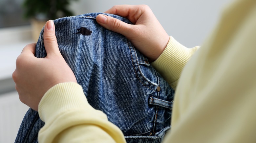
[[134,26],[132,24],[127,24],[127,23],[122,22],[116,18],[107,16],[107,15],[103,15],[103,14],[99,14],[96,17],[96,21],[98,22],[98,24],[100,24],[104,28],[107,28],[107,29],[117,32],[117,33],[120,33],[120,34],[124,35],[125,37],[127,37],[128,34],[131,33],[131,30],[133,29],[133,26]]

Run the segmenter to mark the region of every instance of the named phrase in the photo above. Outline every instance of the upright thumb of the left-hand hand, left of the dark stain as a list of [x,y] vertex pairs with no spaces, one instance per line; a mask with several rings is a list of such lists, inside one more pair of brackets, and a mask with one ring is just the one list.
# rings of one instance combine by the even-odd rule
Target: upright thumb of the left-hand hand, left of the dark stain
[[52,20],[47,21],[44,26],[44,47],[47,55],[61,55],[55,36],[55,26]]

